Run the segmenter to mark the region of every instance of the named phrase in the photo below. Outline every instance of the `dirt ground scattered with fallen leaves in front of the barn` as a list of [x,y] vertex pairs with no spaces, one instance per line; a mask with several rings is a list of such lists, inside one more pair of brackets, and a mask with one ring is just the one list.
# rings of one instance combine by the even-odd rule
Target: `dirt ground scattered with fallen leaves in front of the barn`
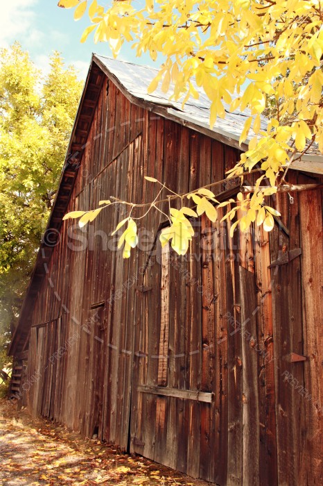
[[0,400],[0,485],[192,485],[194,480],[156,462],[80,438],[63,426],[31,419]]

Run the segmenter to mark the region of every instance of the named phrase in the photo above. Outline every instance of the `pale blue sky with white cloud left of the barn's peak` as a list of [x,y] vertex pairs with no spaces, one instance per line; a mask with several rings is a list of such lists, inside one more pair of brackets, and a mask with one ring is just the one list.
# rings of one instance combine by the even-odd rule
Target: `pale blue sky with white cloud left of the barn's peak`
[[[103,2],[105,3],[105,2]],[[109,2],[110,3],[110,2]],[[8,47],[15,40],[21,43],[35,64],[44,72],[49,70],[49,55],[60,51],[67,64],[73,64],[85,78],[91,53],[112,56],[109,45],[94,44],[93,34],[85,44],[80,37],[89,25],[87,14],[78,22],[73,9],[58,8],[58,0],[6,0],[1,2],[0,47]],[[148,55],[136,58],[135,51],[124,44],[119,59],[156,66]]]

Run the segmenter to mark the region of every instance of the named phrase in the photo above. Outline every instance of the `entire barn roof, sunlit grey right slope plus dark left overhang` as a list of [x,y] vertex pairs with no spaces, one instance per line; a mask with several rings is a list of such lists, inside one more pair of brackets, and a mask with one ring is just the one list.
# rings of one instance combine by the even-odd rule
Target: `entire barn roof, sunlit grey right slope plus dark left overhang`
[[[42,238],[33,274],[30,278],[26,298],[21,308],[19,321],[9,349],[9,354],[24,352],[24,343],[30,331],[30,314],[33,308],[37,292],[42,278],[46,274],[47,265],[51,259],[53,248],[60,235],[62,217],[64,216],[73,184],[78,174],[78,167],[82,159],[82,151],[87,143],[87,135],[91,127],[91,121],[96,110],[96,103],[105,76],[114,83],[119,90],[132,103],[146,108],[152,112],[173,119],[178,123],[193,128],[196,131],[209,135],[220,142],[236,148],[245,149],[246,145],[239,147],[238,140],[243,130],[247,112],[229,112],[227,107],[226,119],[218,119],[213,129],[209,128],[210,102],[200,91],[198,100],[190,99],[184,108],[181,102],[170,101],[169,95],[157,89],[153,94],[147,94],[147,87],[152,78],[157,74],[151,67],[134,65],[131,62],[123,62],[104,56],[92,56],[89,73],[78,107],[76,121],[71,133],[67,156],[62,169],[60,185],[55,197],[49,222]],[[198,89],[198,88],[197,88]],[[265,119],[262,120],[265,128]],[[315,150],[303,156],[302,161],[294,162],[294,169],[301,169],[317,174],[323,174],[323,156],[319,156]]]

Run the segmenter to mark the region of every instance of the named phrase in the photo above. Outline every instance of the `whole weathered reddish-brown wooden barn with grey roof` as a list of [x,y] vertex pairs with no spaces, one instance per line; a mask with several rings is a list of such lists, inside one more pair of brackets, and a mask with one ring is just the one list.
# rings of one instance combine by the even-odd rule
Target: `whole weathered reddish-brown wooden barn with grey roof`
[[[35,415],[218,485],[322,484],[322,192],[275,196],[271,233],[230,239],[202,218],[182,257],[161,251],[157,211],[129,260],[110,236],[122,205],[82,230],[62,221],[110,196],[152,201],[145,175],[184,193],[238,160],[245,114],[210,130],[205,97],[182,109],[148,95],[154,75],[92,58],[12,338],[12,392]],[[313,150],[287,181],[320,183],[322,169]]]

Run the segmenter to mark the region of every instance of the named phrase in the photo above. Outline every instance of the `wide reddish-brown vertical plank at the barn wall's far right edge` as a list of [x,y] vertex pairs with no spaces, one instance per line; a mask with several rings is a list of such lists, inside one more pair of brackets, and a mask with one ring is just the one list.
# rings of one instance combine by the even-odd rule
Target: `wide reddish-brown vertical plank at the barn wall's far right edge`
[[[299,196],[302,287],[304,319],[305,401],[306,419],[306,484],[319,485],[323,476],[322,462],[322,404],[323,404],[323,333],[322,333],[322,199],[318,191],[303,192]],[[289,380],[290,381],[290,380]],[[293,386],[293,383],[290,383]],[[295,386],[297,384],[295,383]],[[293,393],[297,393],[293,389]]]

